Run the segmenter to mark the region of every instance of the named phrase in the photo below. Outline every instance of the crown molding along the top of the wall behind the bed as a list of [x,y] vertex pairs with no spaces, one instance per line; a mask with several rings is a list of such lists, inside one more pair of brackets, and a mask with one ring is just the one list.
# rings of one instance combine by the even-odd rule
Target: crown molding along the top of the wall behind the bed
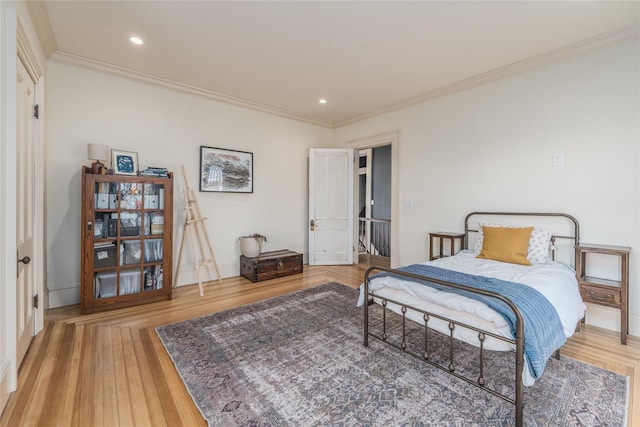
[[596,52],[598,50],[606,49],[608,47],[638,38],[640,38],[640,25],[622,27],[615,31],[604,33],[590,39],[582,40],[580,42],[554,49],[549,52],[533,56],[531,58],[523,59],[522,61],[514,62],[513,64],[509,64],[504,67],[496,68],[486,73],[477,74],[467,79],[439,87],[430,92],[406,99],[396,104],[389,105],[377,111],[363,114],[352,119],[344,120],[342,122],[333,123],[333,127],[337,128],[351,123],[359,122],[364,119],[379,116],[391,111],[401,110],[403,108],[421,104],[423,102],[440,98],[454,92],[470,89],[472,87],[480,86],[485,83],[495,82],[497,80],[514,76],[516,74],[527,72],[534,68],[543,67],[545,65],[560,62],[576,56],[586,55],[588,53]]

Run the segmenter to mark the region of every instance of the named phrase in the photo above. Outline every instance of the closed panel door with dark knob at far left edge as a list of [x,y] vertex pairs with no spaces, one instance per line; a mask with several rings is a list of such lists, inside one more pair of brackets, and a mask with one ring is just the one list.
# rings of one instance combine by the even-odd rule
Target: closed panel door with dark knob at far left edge
[[17,70],[17,146],[16,146],[16,237],[18,277],[16,279],[17,366],[20,366],[35,334],[33,296],[35,295],[35,83],[22,61]]

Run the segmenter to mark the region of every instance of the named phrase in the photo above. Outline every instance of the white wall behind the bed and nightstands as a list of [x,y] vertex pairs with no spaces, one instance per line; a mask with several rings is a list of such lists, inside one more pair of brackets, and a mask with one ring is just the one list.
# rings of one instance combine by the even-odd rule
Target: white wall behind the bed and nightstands
[[[399,129],[397,263],[425,260],[426,233],[462,230],[471,211],[566,212],[583,242],[633,248],[640,335],[639,51],[628,42],[336,129],[338,145]],[[619,330],[619,311],[590,305],[587,322]]]

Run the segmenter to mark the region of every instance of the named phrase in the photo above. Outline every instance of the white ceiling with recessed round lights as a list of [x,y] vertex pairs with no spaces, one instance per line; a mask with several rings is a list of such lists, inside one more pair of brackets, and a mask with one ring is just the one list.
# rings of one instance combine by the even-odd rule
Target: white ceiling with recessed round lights
[[36,22],[50,23],[56,57],[329,127],[636,38],[640,28],[638,1],[40,4]]

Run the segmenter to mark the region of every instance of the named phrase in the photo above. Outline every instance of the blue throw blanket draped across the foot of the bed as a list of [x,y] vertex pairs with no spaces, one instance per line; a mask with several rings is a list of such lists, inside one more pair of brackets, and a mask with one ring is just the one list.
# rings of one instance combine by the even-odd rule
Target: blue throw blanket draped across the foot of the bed
[[[507,320],[511,327],[511,334],[515,337],[516,317],[504,302],[496,298],[485,297],[474,294],[473,292],[429,282],[428,278],[431,277],[458,285],[492,291],[510,299],[511,302],[518,307],[524,319],[525,359],[529,366],[529,371],[535,379],[540,378],[542,375],[549,356],[559,349],[567,340],[556,309],[540,292],[530,286],[491,277],[460,273],[424,264],[413,264],[399,268],[399,270],[426,276],[426,280],[417,280],[416,283],[484,302]],[[373,277],[377,278],[382,276],[394,276],[404,280],[413,280],[391,273],[378,273]]]

